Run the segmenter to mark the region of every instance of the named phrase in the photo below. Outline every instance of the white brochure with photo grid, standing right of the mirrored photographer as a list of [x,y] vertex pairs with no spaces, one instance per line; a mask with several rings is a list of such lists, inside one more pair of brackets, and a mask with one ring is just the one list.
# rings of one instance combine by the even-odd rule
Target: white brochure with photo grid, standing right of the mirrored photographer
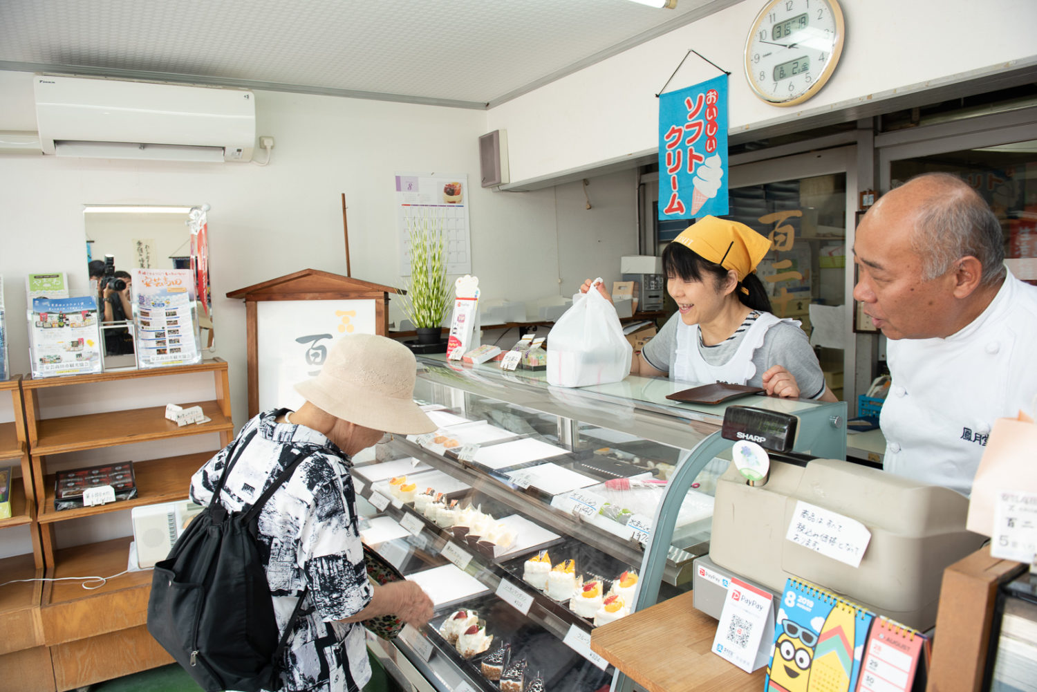
[[133,270],[139,367],[201,362],[194,276],[188,269]]

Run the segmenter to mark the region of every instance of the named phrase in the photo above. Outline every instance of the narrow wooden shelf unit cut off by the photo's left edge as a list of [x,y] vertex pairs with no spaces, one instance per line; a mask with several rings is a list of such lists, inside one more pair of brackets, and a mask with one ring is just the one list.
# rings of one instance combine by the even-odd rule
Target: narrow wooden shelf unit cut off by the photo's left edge
[[[21,378],[0,382],[0,395],[9,394],[15,411],[13,422],[0,423],[0,462],[18,460],[20,478],[12,478],[9,489],[11,511],[0,519],[0,530],[29,526],[33,551],[0,559],[0,582],[15,579],[39,579],[44,576],[43,551],[36,529],[36,503],[33,496],[32,470],[25,441],[25,420],[22,416]],[[8,466],[8,464],[2,464]],[[39,600],[43,582],[21,582],[0,587],[0,692],[45,692],[54,690],[51,654],[44,645],[39,620]],[[13,671],[18,671],[17,674]]]

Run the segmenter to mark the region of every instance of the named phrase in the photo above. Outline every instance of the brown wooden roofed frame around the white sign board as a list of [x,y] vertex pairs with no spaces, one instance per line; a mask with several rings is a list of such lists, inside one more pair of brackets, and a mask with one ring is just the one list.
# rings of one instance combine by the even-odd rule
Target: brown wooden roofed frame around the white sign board
[[[345,211],[343,209],[343,217]],[[348,244],[346,244],[348,249]],[[258,307],[262,301],[308,301],[308,300],[370,300],[374,302],[374,333],[389,334],[389,294],[403,294],[392,286],[383,286],[369,281],[361,281],[348,276],[340,276],[315,269],[304,269],[295,274],[256,283],[245,288],[231,290],[227,298],[245,301],[246,350],[249,368],[249,418],[259,413],[260,367],[258,337]],[[287,326],[285,326],[287,327]]]

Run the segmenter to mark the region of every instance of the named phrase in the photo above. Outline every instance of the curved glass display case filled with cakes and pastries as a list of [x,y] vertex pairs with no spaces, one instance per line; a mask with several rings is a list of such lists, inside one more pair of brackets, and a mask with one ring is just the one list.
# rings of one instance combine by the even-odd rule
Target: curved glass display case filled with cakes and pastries
[[590,633],[691,588],[730,459],[727,406],[792,413],[795,451],[845,458],[845,404],[666,398],[686,388],[566,389],[419,356],[415,398],[440,428],[387,436],[353,469],[364,542],[436,603],[421,632],[368,635],[386,668],[443,692],[628,687]]

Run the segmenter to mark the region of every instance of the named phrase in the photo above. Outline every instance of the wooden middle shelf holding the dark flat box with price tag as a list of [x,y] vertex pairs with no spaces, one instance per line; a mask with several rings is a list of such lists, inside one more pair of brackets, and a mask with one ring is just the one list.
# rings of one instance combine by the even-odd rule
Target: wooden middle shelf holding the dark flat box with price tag
[[201,466],[212,459],[215,451],[202,451],[183,456],[168,456],[135,462],[134,477],[137,480],[137,497],[130,500],[118,500],[93,507],[76,509],[54,508],[54,474],[46,477],[44,487],[46,497],[40,505],[39,523],[49,524],[68,519],[81,519],[109,511],[129,509],[143,504],[173,502],[185,500],[190,491],[190,478]]

